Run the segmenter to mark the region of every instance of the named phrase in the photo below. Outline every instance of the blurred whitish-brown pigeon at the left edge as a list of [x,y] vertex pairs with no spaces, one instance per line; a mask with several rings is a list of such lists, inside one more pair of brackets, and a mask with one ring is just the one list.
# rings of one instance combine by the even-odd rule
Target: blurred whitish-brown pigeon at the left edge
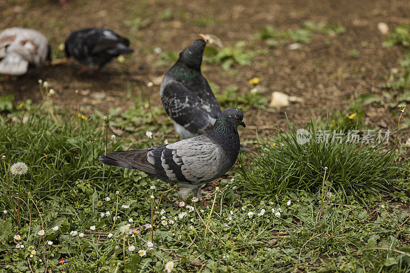
[[34,29],[8,28],[0,33],[0,73],[26,74],[29,67],[40,67],[50,60],[46,36]]

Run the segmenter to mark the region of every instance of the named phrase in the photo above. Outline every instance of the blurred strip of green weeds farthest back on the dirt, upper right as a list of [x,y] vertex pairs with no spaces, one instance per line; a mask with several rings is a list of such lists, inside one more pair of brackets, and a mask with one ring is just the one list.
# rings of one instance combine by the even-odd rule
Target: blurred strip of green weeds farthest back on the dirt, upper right
[[333,23],[327,24],[324,22],[314,23],[311,21],[306,21],[303,23],[302,28],[298,28],[296,30],[287,29],[285,31],[280,31],[273,26],[267,25],[262,28],[259,33],[255,34],[254,37],[256,39],[265,40],[267,45],[270,47],[275,47],[286,43],[288,40],[309,44],[312,41],[312,35],[315,33],[335,36],[336,34],[344,31],[345,28],[343,26]]

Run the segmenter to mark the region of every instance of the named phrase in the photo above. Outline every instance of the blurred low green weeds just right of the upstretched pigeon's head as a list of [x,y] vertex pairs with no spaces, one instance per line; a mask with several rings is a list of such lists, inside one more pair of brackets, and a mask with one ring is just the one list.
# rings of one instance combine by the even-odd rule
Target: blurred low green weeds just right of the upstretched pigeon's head
[[204,51],[204,62],[217,64],[220,65],[223,70],[228,70],[234,64],[239,66],[250,65],[255,56],[268,54],[265,50],[245,50],[245,45],[245,41],[239,41],[234,47],[224,47],[222,49],[206,47]]

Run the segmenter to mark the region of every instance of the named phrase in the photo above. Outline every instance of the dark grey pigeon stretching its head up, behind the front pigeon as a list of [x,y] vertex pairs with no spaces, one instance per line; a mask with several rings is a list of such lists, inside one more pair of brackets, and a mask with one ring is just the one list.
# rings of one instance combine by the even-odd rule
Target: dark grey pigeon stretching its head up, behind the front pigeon
[[205,40],[197,39],[179,53],[159,89],[163,108],[182,139],[208,132],[221,113],[207,79],[201,74],[206,44]]

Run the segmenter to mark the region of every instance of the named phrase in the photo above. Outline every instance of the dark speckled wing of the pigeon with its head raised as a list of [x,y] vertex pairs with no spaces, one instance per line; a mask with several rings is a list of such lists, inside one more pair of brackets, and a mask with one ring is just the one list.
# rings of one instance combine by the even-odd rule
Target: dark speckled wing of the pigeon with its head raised
[[170,81],[163,88],[161,100],[167,114],[191,133],[205,133],[215,123],[207,106],[181,82]]

